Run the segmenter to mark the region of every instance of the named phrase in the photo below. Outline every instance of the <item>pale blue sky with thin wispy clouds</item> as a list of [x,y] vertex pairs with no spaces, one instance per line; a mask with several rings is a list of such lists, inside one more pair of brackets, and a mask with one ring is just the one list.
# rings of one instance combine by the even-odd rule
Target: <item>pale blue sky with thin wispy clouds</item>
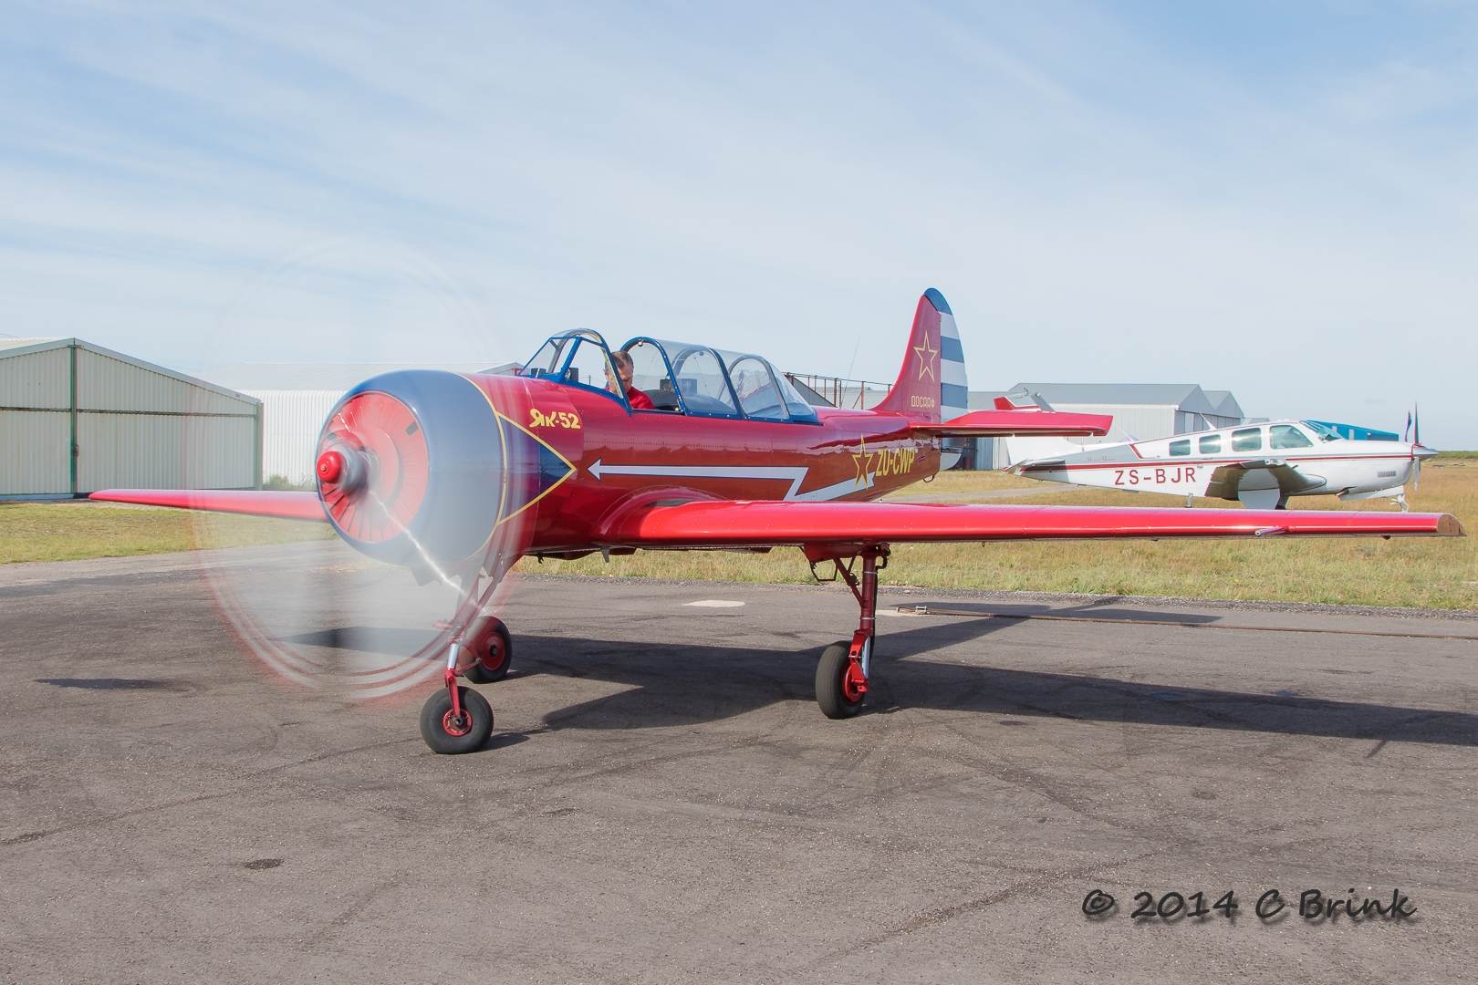
[[973,388],[1478,447],[1475,53],[1472,3],[10,1],[0,332],[888,381],[937,286]]

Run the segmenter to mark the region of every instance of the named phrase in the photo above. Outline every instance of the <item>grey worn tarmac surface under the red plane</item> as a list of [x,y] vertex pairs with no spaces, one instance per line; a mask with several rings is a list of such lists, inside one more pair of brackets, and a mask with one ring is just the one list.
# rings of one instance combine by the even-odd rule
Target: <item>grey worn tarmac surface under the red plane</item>
[[[340,549],[213,564],[272,631],[310,594],[275,572],[380,577]],[[885,589],[1144,625],[881,617],[834,722],[835,586],[523,577],[494,738],[448,758],[435,684],[260,672],[200,560],[0,569],[6,982],[1478,981],[1478,641],[1364,635],[1471,619]],[[279,638],[412,645],[417,592]],[[1414,916],[1308,920],[1308,889]]]

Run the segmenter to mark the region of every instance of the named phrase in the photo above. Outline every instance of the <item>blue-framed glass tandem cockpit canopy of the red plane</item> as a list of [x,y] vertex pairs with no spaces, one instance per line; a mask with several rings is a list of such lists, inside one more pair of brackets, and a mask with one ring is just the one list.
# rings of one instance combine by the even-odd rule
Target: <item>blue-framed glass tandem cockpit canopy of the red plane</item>
[[[646,337],[633,338],[619,351],[631,357],[631,387],[655,408],[636,413],[819,422],[816,409],[760,356]],[[590,329],[554,335],[520,375],[591,390],[630,409],[610,349]]]

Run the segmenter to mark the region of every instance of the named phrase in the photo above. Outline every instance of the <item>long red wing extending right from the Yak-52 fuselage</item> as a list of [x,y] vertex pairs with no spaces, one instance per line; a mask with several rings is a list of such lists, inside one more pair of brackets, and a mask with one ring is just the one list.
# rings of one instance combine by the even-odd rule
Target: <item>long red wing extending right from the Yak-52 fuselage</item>
[[1462,533],[1457,518],[1445,512],[702,501],[618,517],[596,540],[612,546],[721,548],[909,540]]

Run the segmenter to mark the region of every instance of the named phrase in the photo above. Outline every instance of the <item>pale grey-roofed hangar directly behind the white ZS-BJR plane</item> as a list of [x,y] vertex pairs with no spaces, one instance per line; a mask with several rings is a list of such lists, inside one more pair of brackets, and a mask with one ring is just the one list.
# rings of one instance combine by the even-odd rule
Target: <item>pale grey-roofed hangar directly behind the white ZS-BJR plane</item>
[[[1054,411],[1113,415],[1113,428],[1106,437],[1067,439],[1076,445],[1148,442],[1243,422],[1242,406],[1230,390],[1202,390],[1193,382],[1018,382],[1012,390],[1023,387],[1030,394],[1041,394]],[[971,391],[970,409],[989,409],[1004,393]],[[1008,464],[1001,439],[981,439],[974,450],[974,468]]]

